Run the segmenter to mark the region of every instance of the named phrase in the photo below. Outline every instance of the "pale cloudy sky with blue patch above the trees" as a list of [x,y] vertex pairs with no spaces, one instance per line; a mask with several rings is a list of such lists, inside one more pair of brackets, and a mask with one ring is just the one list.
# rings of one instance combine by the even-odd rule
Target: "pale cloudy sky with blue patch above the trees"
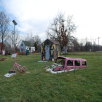
[[[80,42],[95,41],[102,45],[102,0],[0,0],[4,10],[18,23],[21,36],[29,33],[46,39],[46,31],[53,19],[63,13],[73,16],[77,29],[73,36]],[[11,23],[12,24],[12,23]]]

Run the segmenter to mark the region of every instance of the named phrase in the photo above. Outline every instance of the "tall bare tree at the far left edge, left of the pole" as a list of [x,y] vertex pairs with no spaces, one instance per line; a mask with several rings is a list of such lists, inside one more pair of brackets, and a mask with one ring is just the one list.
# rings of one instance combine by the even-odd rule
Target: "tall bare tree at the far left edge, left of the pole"
[[4,39],[7,36],[9,19],[4,12],[0,12],[0,39],[2,41],[1,51],[4,45]]

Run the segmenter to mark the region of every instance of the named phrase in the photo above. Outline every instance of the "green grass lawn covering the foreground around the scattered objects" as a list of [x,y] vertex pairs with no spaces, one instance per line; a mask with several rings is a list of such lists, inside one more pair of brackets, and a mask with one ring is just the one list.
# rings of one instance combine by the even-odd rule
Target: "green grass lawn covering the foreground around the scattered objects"
[[69,53],[69,57],[85,58],[86,69],[75,73],[51,74],[39,63],[40,55],[18,55],[17,62],[30,73],[17,73],[5,78],[13,65],[11,56],[0,61],[0,102],[102,102],[102,52]]

